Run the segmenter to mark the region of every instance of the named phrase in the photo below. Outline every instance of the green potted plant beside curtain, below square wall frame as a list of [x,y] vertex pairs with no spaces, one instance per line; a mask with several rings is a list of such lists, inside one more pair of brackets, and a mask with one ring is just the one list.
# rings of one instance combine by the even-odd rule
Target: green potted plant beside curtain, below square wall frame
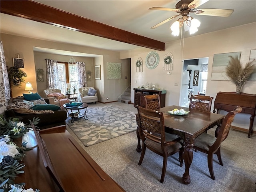
[[27,74],[22,71],[20,68],[17,67],[8,67],[7,66],[7,73],[10,83],[10,95],[12,97],[12,86],[14,87],[20,87],[22,83],[25,82],[24,77],[27,76]]

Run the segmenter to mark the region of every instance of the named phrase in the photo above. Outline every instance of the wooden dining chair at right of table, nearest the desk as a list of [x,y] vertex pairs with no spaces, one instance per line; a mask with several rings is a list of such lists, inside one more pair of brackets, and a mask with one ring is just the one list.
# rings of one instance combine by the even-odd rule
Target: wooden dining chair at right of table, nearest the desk
[[223,166],[221,155],[220,155],[220,145],[228,136],[230,126],[234,119],[234,116],[237,113],[240,113],[241,111],[242,111],[242,108],[240,106],[237,106],[236,108],[234,108],[233,111],[228,112],[228,114],[225,116],[222,122],[220,131],[218,132],[217,137],[214,137],[204,132],[203,134],[198,136],[196,138],[196,141],[194,142],[193,148],[195,150],[198,150],[207,154],[208,168],[209,168],[211,178],[213,180],[215,180],[213,166],[212,166],[213,154],[217,155],[220,165]]

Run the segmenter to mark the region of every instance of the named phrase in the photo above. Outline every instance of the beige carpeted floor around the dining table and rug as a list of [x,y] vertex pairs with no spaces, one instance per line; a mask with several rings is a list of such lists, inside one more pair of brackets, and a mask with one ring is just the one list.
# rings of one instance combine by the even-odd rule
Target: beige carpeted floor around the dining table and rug
[[[89,104],[89,107],[118,106],[136,113],[134,105],[120,102],[110,104]],[[185,185],[181,177],[185,167],[180,167],[178,154],[168,158],[164,183],[160,183],[162,157],[146,150],[142,165],[138,165],[140,153],[136,151],[136,132],[85,147],[67,127],[86,152],[112,177],[126,192],[255,192],[256,190],[256,134],[247,138],[247,133],[230,130],[228,138],[222,142],[222,162],[214,156],[214,174],[210,178],[207,156],[194,152],[190,166],[191,183]],[[214,128],[208,133],[214,134]]]

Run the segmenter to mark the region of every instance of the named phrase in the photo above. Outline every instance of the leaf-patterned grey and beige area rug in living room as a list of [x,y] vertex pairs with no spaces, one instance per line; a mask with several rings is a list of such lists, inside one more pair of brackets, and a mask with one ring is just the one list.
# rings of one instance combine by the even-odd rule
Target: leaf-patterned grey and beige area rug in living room
[[88,107],[86,115],[88,120],[77,118],[74,123],[71,123],[70,117],[66,120],[85,146],[118,137],[137,128],[135,113],[115,106]]

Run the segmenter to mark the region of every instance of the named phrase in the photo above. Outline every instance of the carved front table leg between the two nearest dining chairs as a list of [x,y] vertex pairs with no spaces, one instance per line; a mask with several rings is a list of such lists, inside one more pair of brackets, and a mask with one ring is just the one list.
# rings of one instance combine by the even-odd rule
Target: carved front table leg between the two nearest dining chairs
[[184,151],[184,162],[185,162],[185,173],[182,176],[182,182],[184,184],[190,184],[190,175],[189,168],[193,160],[193,150],[192,146],[194,146],[194,137],[190,135],[185,135],[185,151]]

